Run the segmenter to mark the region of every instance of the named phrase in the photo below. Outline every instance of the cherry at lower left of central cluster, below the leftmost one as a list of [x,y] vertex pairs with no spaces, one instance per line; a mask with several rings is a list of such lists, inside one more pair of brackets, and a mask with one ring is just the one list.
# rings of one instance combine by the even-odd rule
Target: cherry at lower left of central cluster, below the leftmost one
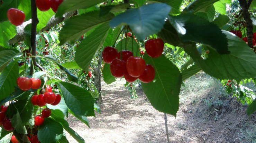
[[114,77],[122,77],[125,75],[125,61],[121,59],[113,59],[110,64],[110,72]]

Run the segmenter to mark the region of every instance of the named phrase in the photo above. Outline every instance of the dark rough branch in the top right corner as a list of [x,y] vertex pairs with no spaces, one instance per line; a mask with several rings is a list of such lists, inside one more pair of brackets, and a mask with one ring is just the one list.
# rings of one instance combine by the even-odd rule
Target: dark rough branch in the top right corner
[[[253,48],[253,21],[250,19],[250,13],[248,11],[250,4],[252,3],[252,0],[249,0],[248,3],[246,0],[238,0],[239,4],[242,8],[244,20],[246,23],[246,34],[247,34],[247,40],[248,40],[248,46]],[[254,52],[256,52],[256,48],[254,48]]]

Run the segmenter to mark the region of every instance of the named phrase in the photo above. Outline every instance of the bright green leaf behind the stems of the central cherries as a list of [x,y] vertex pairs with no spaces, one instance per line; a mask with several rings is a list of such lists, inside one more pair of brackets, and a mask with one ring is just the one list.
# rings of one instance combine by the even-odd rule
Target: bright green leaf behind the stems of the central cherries
[[[132,50],[132,47],[133,47],[133,50]],[[120,52],[121,49],[133,51],[134,56],[140,56],[139,45],[132,37],[122,39],[120,42],[117,43],[116,49],[118,52]]]

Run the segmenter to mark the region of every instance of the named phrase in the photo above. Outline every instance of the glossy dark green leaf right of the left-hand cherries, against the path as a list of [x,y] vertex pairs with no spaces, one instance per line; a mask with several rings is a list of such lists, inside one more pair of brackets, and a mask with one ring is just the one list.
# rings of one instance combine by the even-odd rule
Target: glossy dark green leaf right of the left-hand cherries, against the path
[[95,116],[94,99],[91,94],[76,85],[60,82],[61,91],[67,107],[77,115]]

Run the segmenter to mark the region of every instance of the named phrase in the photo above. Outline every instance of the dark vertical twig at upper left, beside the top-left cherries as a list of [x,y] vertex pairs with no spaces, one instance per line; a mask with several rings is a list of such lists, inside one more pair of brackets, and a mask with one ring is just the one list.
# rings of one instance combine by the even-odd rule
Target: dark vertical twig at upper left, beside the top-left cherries
[[[31,0],[31,54],[33,56],[36,55],[36,25],[38,24],[37,19],[37,8],[36,8],[36,2],[35,0]],[[31,57],[34,66],[36,66],[36,57]],[[32,65],[30,65],[29,75],[33,75],[34,68]]]

